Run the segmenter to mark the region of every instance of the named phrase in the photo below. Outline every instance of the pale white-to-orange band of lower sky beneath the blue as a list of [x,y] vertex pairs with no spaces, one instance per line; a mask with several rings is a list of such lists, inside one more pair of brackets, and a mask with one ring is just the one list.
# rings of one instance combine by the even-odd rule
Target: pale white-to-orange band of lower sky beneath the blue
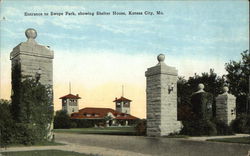
[[[6,50],[4,50],[6,51]],[[155,54],[125,54],[119,51],[82,49],[72,51],[54,49],[53,65],[54,102],[56,110],[61,109],[59,97],[68,94],[68,84],[72,93],[79,94],[80,108],[111,107],[113,99],[121,96],[121,85],[125,85],[125,96],[132,99],[132,114],[145,117],[147,68],[157,64]],[[179,76],[193,76],[194,73],[215,69],[219,75],[225,73],[224,62],[219,58],[176,57],[166,54],[165,63],[176,67]],[[1,55],[1,95],[9,99],[11,93],[9,53]]]

